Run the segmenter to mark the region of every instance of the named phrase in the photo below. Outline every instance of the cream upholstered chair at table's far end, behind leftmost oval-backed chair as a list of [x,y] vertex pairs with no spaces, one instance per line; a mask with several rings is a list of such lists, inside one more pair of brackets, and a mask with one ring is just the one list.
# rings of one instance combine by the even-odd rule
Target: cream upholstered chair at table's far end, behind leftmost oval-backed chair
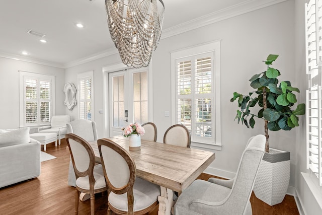
[[[76,119],[66,124],[67,133],[76,134],[88,142],[97,140],[96,123],[86,119]],[[69,162],[68,185],[75,186],[75,174],[71,160]]]

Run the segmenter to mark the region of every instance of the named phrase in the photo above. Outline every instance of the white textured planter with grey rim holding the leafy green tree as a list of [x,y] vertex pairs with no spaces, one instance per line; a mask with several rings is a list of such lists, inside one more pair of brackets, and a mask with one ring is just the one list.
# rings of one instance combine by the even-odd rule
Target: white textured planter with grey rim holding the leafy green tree
[[[273,152],[273,153],[271,153]],[[269,205],[281,203],[290,181],[290,153],[265,153],[254,184],[255,196]]]

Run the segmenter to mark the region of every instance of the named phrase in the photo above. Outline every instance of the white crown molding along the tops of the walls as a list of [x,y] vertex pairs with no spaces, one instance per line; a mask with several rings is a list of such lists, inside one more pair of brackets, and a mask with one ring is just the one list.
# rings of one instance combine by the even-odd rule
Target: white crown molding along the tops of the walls
[[[191,31],[200,27],[204,27],[222,20],[226,20],[232,17],[236,17],[242,14],[246,14],[252,11],[256,11],[265,7],[269,7],[275,4],[279,4],[282,2],[285,2],[288,0],[249,0],[244,3],[240,3],[237,5],[234,5],[232,7],[225,8],[223,10],[215,11],[211,14],[207,14],[205,16],[202,16],[200,18],[182,23],[180,25],[165,29],[162,31],[161,39],[166,39],[181,33],[185,33],[187,31]],[[49,61],[42,61],[39,59],[29,58],[29,57],[22,57],[20,55],[13,55],[13,54],[6,54],[0,52],[0,57],[6,57],[10,59],[15,60],[22,60],[26,62],[32,62],[32,63],[38,63],[43,65],[49,65],[59,68],[69,68],[72,66],[80,65],[83,63],[87,63],[96,59],[100,59],[102,57],[110,56],[113,54],[118,53],[117,49],[115,47],[107,49],[103,52],[87,56],[81,59],[77,59],[65,64],[58,64],[54,62]]]

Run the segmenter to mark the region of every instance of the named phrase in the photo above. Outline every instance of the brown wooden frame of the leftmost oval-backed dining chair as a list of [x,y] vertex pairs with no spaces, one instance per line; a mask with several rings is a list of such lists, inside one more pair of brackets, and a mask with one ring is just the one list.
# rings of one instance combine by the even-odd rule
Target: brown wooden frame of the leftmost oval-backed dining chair
[[[79,144],[81,144],[86,151],[89,154],[90,157],[90,164],[87,170],[85,170],[84,172],[81,172],[77,169],[76,165],[75,165],[75,161],[74,161],[74,157],[71,151],[71,147],[69,144],[69,138],[75,140],[76,142],[78,142]],[[76,180],[79,177],[85,177],[88,176],[89,177],[89,181],[90,181],[90,189],[82,189],[80,187],[78,187],[77,185],[75,186],[75,214],[78,214],[78,202],[79,202],[79,193],[80,192],[84,192],[84,193],[89,193],[90,197],[91,197],[91,214],[94,215],[94,211],[95,211],[95,193],[101,193],[107,190],[107,188],[101,188],[101,189],[94,189],[94,185],[95,185],[95,178],[94,178],[94,166],[95,166],[95,155],[94,155],[94,151],[92,149],[92,147],[89,145],[89,143],[83,139],[80,136],[77,136],[76,134],[73,133],[67,133],[66,134],[66,142],[68,145],[68,149],[70,152],[70,157],[71,157],[71,161],[72,161],[72,166],[74,168],[74,172],[75,172],[75,176],[76,176]]]

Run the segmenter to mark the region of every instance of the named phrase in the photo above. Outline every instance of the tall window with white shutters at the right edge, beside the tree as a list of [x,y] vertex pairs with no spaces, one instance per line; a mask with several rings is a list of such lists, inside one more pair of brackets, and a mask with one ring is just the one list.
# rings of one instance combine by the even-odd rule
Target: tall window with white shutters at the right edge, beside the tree
[[[307,169],[316,176],[322,186],[322,124],[321,124],[321,63],[322,63],[322,1],[311,0],[305,4],[306,29],[306,73],[308,89],[306,91],[306,146]],[[318,6],[318,7],[317,7]]]

